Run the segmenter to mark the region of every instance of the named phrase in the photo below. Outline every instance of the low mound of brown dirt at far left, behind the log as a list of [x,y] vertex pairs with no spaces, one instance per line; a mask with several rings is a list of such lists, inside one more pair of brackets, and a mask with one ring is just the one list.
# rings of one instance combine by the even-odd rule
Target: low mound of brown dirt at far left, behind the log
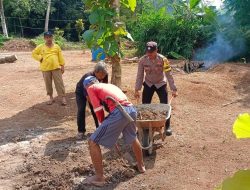
[[30,43],[27,39],[13,39],[4,43],[2,50],[5,51],[30,51],[35,46]]

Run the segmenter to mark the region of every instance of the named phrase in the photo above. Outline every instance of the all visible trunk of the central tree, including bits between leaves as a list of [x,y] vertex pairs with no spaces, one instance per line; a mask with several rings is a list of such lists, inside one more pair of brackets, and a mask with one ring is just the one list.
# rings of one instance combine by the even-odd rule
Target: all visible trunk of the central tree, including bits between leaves
[[[120,14],[120,1],[119,0],[114,0],[113,1],[114,6],[116,7],[116,12],[117,12],[117,21],[119,21],[119,14]],[[119,39],[117,39],[118,44]],[[116,54],[115,56],[111,57],[111,62],[112,62],[112,76],[111,76],[111,83],[121,87],[121,79],[122,79],[122,69],[121,69],[121,58]]]

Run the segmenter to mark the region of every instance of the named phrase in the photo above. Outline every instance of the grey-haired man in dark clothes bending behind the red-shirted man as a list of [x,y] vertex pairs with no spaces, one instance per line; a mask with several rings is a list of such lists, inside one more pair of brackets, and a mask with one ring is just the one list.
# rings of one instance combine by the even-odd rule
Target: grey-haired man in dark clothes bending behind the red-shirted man
[[[89,102],[88,94],[86,89],[83,86],[83,81],[88,76],[96,77],[99,82],[108,83],[108,71],[106,64],[103,61],[98,62],[95,67],[94,71],[88,72],[82,76],[81,80],[76,85],[76,103],[77,103],[77,126],[78,126],[78,134],[77,139],[81,140],[86,132],[86,123],[85,123],[85,111],[86,111],[86,104]],[[95,121],[96,128],[98,127],[98,119],[95,115],[92,105],[89,103],[89,107],[92,113],[92,116]]]

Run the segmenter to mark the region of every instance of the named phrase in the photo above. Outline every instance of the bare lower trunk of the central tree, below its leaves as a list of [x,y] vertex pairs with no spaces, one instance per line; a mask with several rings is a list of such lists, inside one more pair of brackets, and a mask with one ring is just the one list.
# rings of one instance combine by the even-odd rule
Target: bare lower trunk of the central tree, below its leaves
[[121,58],[118,55],[111,57],[112,62],[112,76],[111,76],[111,83],[121,87],[122,83],[122,69],[121,69]]

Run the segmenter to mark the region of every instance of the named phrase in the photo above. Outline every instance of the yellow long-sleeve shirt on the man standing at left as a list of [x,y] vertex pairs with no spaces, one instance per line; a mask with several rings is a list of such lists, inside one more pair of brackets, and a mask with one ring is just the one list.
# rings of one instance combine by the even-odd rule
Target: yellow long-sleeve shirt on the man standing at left
[[32,57],[40,62],[41,71],[55,70],[65,64],[62,50],[57,44],[54,44],[52,47],[48,47],[45,44],[37,46],[32,51]]

